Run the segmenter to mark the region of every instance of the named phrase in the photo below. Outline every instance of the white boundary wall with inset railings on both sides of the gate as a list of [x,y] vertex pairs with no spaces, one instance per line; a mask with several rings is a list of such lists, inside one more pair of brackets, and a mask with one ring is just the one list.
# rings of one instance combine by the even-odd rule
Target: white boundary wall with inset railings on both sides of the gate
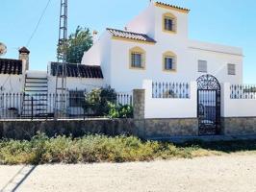
[[[145,118],[196,118],[197,84],[143,81]],[[171,89],[172,87],[172,89]],[[221,117],[256,117],[256,86],[221,84]]]

